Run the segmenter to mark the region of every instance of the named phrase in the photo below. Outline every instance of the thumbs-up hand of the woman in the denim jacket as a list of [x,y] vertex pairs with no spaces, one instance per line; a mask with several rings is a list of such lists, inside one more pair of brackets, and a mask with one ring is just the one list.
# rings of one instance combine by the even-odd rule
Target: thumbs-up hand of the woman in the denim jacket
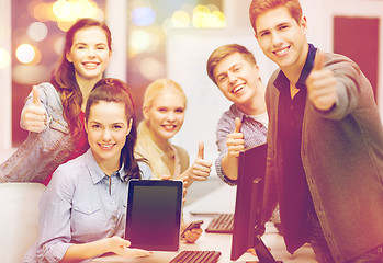
[[26,130],[41,133],[46,128],[47,113],[40,101],[36,85],[32,88],[32,96],[33,102],[23,108],[20,123],[21,127]]

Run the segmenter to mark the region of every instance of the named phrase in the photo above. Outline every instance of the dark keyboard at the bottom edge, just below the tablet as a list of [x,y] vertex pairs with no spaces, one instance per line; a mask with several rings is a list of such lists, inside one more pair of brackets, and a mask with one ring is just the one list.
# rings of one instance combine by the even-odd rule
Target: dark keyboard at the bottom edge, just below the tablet
[[169,263],[216,263],[221,256],[218,251],[181,251]]

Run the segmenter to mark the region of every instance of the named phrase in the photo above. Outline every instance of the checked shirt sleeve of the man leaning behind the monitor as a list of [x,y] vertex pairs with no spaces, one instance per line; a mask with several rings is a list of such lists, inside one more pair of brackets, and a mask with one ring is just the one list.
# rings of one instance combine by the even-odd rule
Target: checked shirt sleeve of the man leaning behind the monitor
[[224,156],[227,153],[227,145],[226,145],[226,138],[227,135],[233,133],[235,129],[235,117],[229,114],[229,112],[225,112],[217,124],[216,129],[216,145],[218,147],[219,155],[217,159],[215,160],[215,170],[218,175],[225,183],[228,185],[236,185],[237,182],[235,180],[228,179],[224,171],[222,170],[221,161],[224,158]]

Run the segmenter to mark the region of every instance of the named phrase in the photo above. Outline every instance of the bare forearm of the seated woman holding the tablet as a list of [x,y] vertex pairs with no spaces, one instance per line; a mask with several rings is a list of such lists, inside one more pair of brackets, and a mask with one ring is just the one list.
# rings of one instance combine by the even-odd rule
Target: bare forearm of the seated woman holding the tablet
[[111,252],[110,239],[101,239],[89,243],[72,244],[65,253],[61,262],[78,262],[108,252]]

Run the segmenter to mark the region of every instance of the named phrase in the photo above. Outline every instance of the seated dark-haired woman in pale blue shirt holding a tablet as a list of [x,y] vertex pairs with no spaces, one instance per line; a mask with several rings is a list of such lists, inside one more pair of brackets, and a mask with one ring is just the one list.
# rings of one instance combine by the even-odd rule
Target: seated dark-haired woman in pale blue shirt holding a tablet
[[147,164],[138,162],[135,111],[127,85],[101,79],[85,111],[90,149],[61,164],[40,205],[40,237],[23,262],[79,262],[113,252],[146,256],[124,240],[129,179],[150,179]]

